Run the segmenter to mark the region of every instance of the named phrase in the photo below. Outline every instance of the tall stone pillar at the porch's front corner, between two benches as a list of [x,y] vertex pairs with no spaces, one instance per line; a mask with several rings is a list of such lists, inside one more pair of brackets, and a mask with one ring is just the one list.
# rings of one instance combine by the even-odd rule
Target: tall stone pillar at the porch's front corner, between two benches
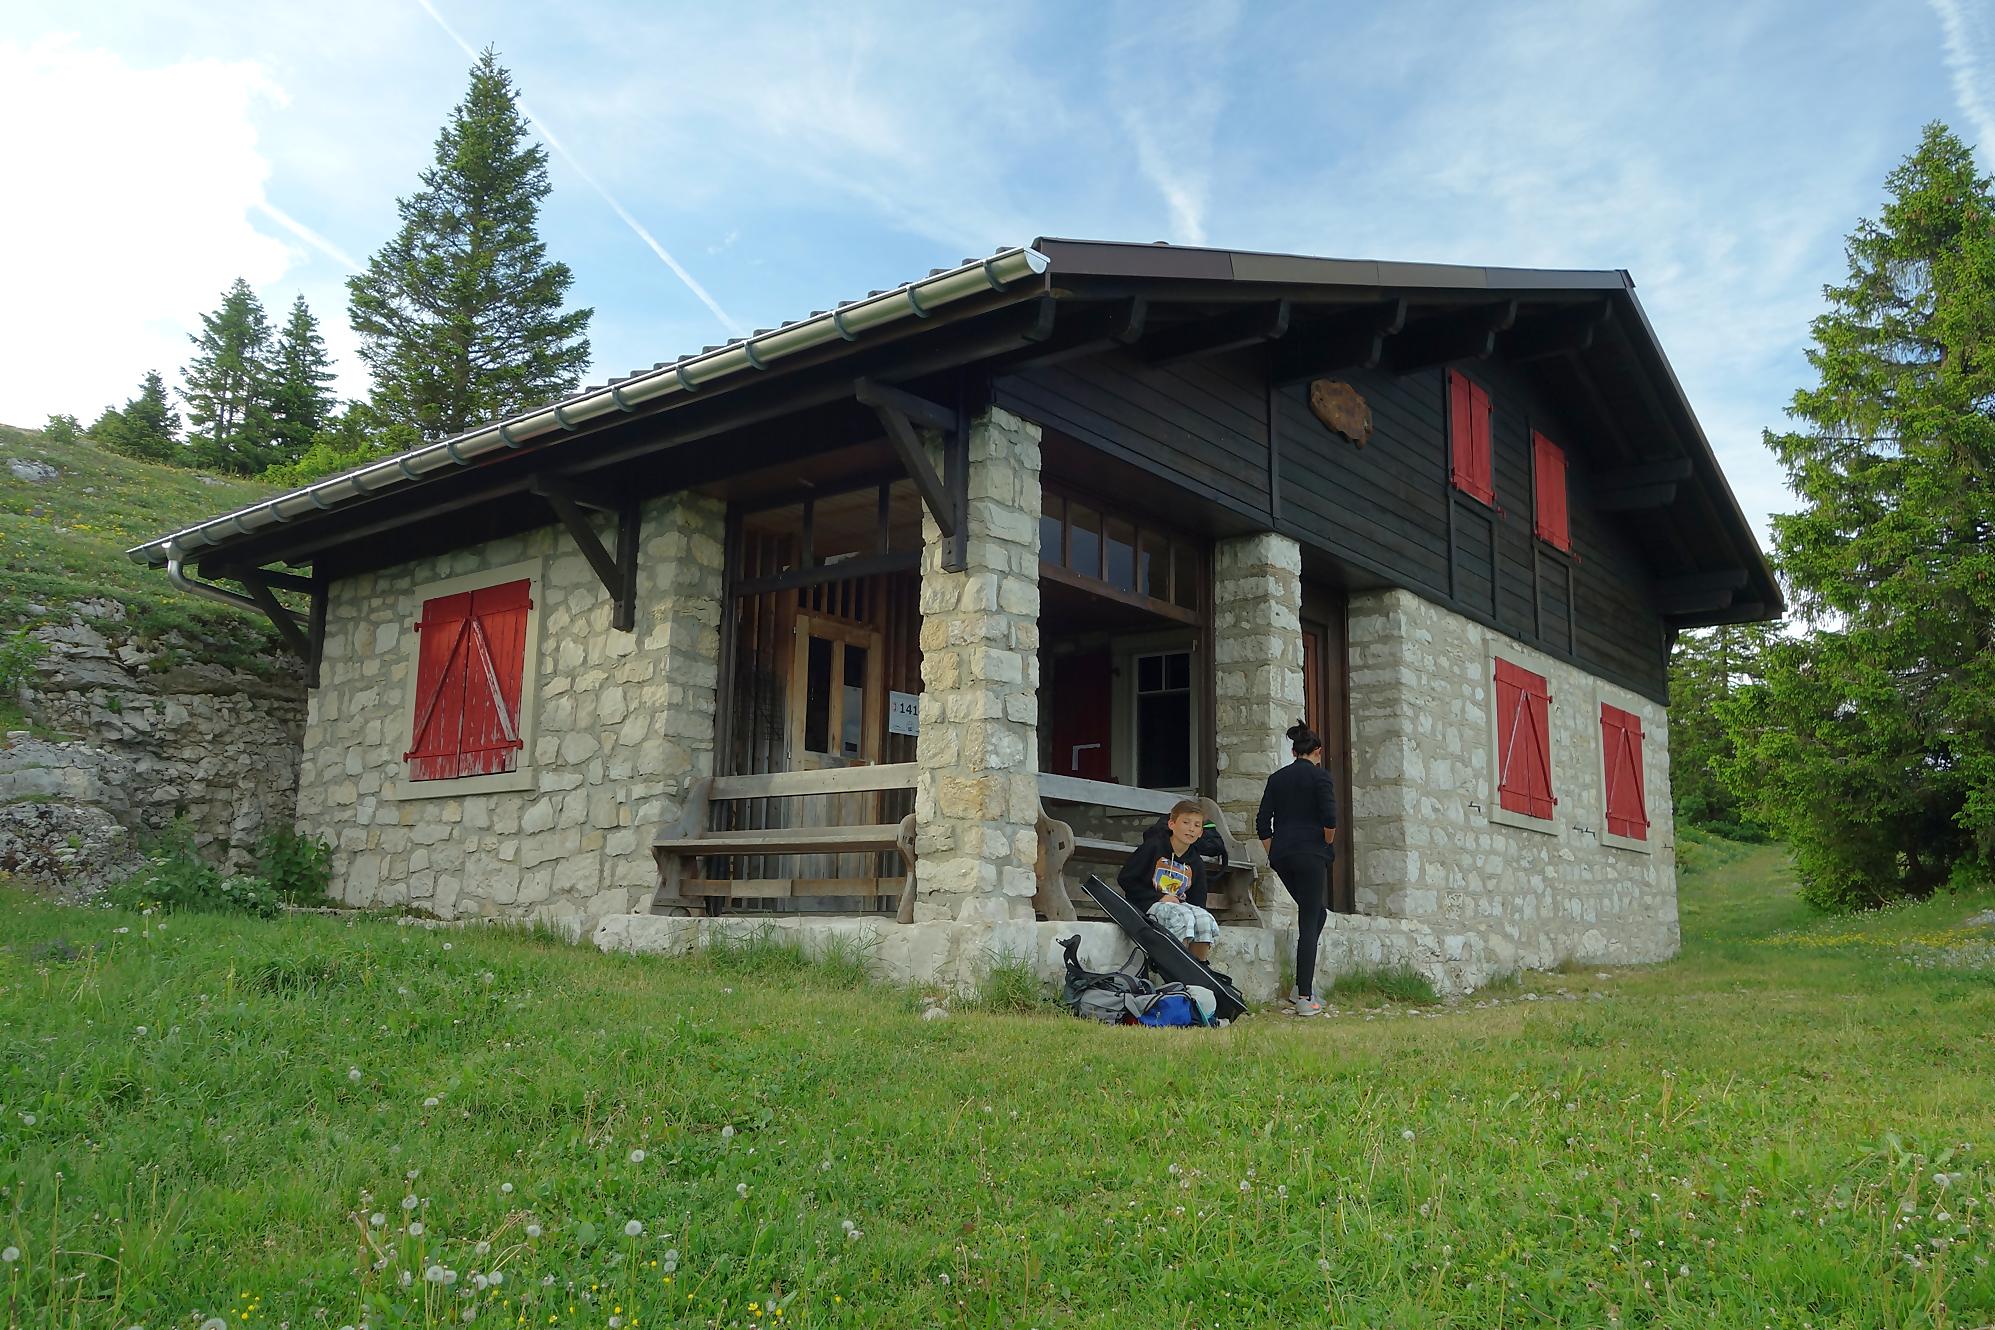
[[[940,457],[938,469],[940,469]],[[1031,919],[1039,853],[1039,427],[970,427],[970,550],[922,518],[916,921]]]

